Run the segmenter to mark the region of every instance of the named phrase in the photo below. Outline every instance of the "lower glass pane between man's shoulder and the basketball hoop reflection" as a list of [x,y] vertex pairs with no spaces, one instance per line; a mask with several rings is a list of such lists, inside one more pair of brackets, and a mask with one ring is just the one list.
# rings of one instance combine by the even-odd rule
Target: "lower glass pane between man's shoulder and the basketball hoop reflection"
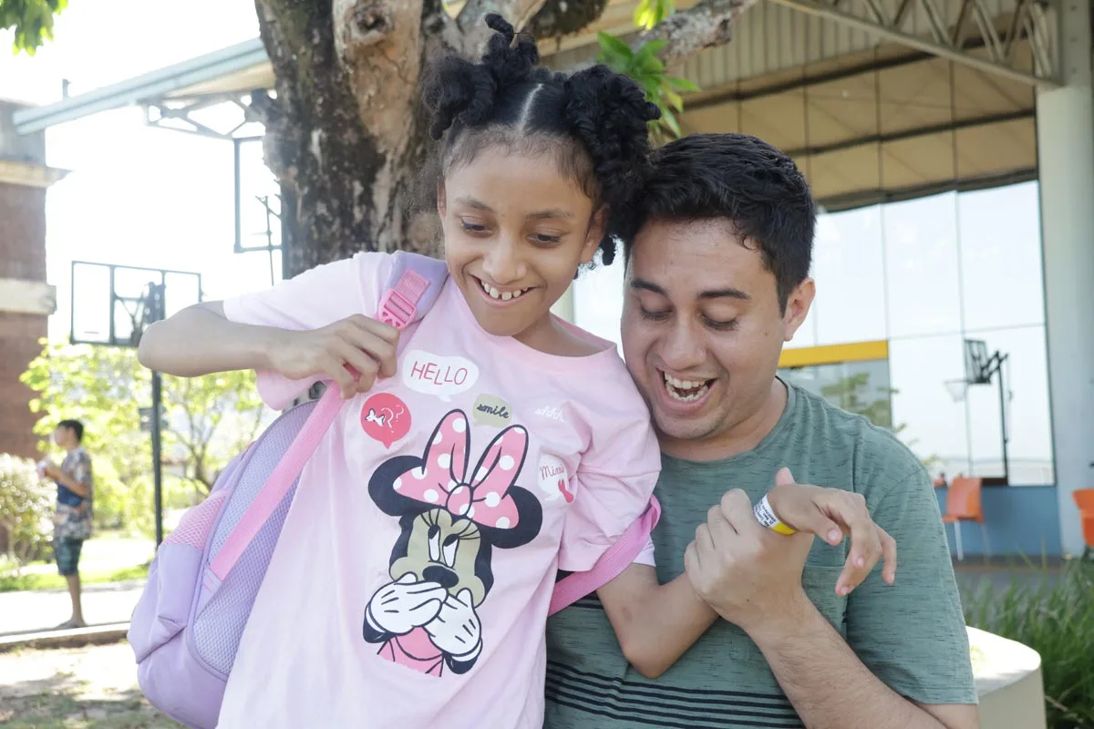
[[961,390],[962,352],[961,334],[889,342],[894,430],[933,475],[970,472],[965,404],[947,386]]

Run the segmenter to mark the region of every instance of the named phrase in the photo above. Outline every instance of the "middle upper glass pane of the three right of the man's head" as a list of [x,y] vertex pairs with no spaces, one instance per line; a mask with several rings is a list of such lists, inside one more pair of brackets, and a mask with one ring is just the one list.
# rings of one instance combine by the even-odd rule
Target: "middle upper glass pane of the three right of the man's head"
[[884,207],[891,338],[961,331],[955,193]]

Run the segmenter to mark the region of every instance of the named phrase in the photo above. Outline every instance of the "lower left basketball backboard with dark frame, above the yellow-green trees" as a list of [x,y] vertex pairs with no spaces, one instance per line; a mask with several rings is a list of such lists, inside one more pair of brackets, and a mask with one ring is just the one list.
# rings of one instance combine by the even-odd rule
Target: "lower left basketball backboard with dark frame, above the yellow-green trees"
[[164,315],[201,301],[201,274],[72,261],[73,344],[137,346],[148,326],[150,284],[164,286]]

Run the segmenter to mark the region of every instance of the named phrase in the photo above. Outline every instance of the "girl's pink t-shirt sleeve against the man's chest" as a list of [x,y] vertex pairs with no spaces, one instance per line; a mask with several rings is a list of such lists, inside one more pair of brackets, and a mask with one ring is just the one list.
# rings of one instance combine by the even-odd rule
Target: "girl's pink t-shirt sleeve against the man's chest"
[[562,526],[559,568],[591,569],[650,503],[661,450],[644,412],[629,422],[605,420],[571,479],[575,493]]

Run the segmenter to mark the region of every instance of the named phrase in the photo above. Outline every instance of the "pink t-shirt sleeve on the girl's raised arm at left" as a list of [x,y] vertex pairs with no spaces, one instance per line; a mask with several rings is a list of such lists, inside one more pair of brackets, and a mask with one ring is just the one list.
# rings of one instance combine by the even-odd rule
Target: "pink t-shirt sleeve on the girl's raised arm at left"
[[[319,329],[354,314],[374,316],[391,270],[387,254],[357,254],[272,289],[224,299],[224,316],[237,324],[294,330]],[[268,407],[282,410],[318,379],[293,380],[259,371],[258,393]]]

